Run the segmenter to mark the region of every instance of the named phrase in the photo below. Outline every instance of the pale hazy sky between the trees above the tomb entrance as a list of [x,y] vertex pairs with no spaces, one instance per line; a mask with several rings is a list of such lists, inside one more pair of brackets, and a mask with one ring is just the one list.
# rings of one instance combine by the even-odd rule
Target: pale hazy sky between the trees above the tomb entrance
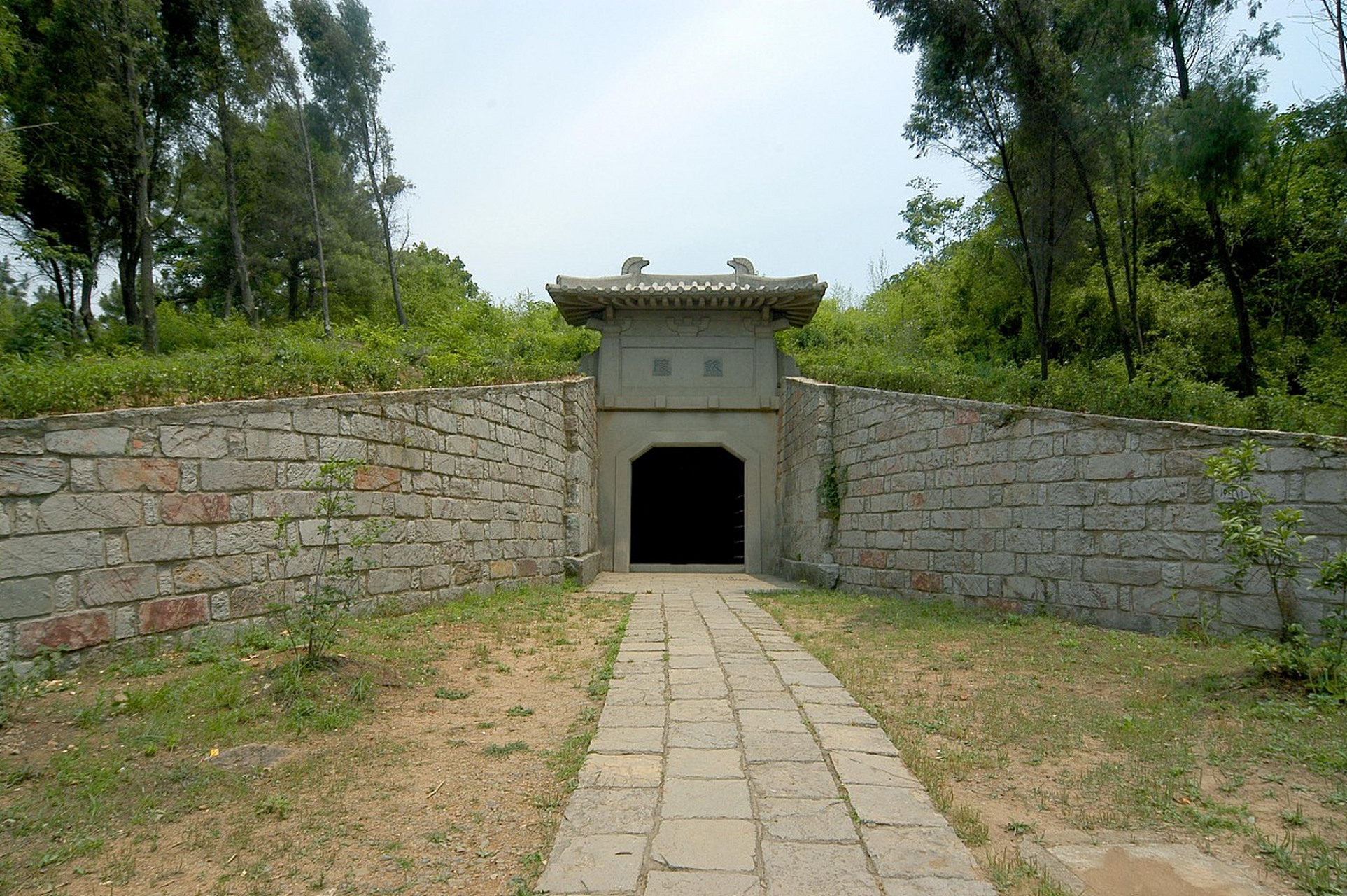
[[[500,299],[632,255],[661,274],[745,256],[863,295],[913,257],[912,178],[982,190],[908,148],[913,59],[863,0],[365,1],[409,240]],[[1266,5],[1288,28],[1269,98],[1327,93],[1304,0]]]

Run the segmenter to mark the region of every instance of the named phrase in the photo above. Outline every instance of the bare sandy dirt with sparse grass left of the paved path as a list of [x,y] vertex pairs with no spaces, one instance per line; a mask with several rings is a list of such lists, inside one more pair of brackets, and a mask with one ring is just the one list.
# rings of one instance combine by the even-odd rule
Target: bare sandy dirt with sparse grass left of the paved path
[[[556,627],[539,636],[528,625],[502,633],[438,624],[438,658],[418,670],[416,680],[395,664],[348,656],[346,664],[373,672],[374,710],[366,718],[346,730],[277,738],[282,759],[247,749],[211,757],[198,749],[193,761],[214,767],[199,798],[166,821],[109,826],[101,849],[86,856],[43,866],[43,849],[53,846],[40,834],[0,835],[9,892],[519,892],[551,842],[567,792],[558,756],[568,741],[572,749],[577,738],[587,742],[602,702],[589,684],[625,612],[620,598],[585,600],[585,612],[568,616],[560,637]],[[265,668],[276,662],[268,653],[249,659],[255,686],[265,687]],[[42,769],[71,749],[106,749],[113,725],[88,732],[71,722],[88,705],[93,675],[81,672],[26,703],[0,729],[0,750]],[[221,760],[228,771],[217,771]],[[182,756],[174,750],[137,761],[180,763]],[[189,765],[180,777],[193,771]],[[164,776],[150,780],[166,786]],[[24,788],[50,786],[42,775],[19,781],[0,795],[0,812],[8,814]]]

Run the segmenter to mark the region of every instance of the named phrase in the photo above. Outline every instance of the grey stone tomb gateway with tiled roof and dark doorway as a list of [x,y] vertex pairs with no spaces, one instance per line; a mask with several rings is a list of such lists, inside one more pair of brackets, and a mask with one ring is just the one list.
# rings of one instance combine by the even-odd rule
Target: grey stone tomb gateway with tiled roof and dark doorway
[[795,364],[775,334],[804,326],[818,276],[730,274],[558,276],[568,323],[602,334],[582,362],[595,379],[603,570],[770,571],[777,555],[777,411]]

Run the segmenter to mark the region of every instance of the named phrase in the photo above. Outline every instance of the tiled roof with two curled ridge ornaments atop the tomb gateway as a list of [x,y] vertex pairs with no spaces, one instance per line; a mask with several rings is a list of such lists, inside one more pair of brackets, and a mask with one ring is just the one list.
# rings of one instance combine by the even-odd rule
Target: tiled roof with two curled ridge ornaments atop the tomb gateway
[[622,263],[622,272],[606,278],[558,276],[547,292],[567,323],[581,326],[594,315],[618,310],[692,311],[761,310],[804,326],[828,288],[816,274],[797,278],[758,276],[748,259],[730,259],[731,274],[644,274],[643,257]]

